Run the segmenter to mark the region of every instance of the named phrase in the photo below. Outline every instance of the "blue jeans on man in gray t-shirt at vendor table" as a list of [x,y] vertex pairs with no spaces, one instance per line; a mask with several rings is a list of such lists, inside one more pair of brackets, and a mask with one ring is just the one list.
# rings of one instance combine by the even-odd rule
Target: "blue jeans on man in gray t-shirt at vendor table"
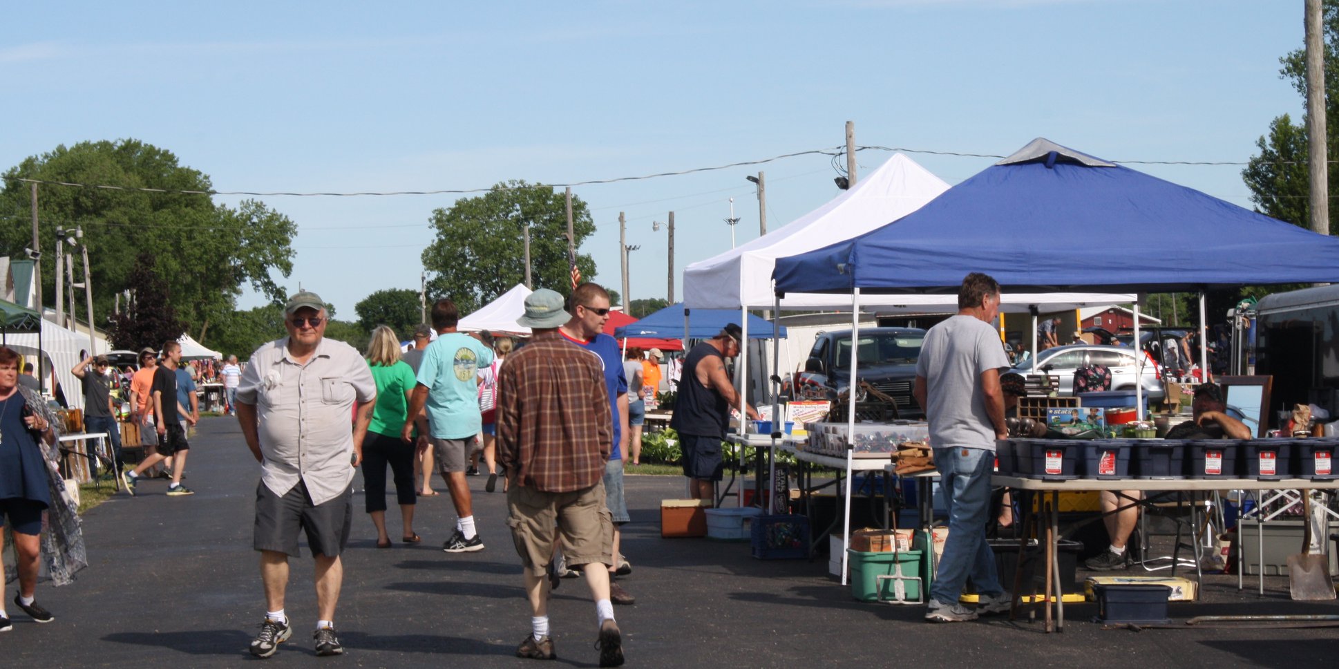
[[995,572],[995,554],[986,543],[995,452],[981,448],[936,448],[935,467],[945,493],[948,539],[944,542],[944,556],[939,560],[939,572],[929,595],[941,603],[957,603],[968,576],[979,594],[1003,593]]

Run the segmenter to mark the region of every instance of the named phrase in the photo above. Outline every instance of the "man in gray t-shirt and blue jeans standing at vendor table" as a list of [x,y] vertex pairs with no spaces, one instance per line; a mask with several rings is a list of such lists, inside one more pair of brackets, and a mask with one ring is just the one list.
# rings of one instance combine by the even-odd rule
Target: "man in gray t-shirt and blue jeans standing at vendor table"
[[[1000,373],[1008,369],[1008,357],[991,324],[999,307],[995,279],[967,275],[957,291],[957,315],[925,332],[916,361],[912,394],[929,420],[929,445],[948,507],[948,540],[925,613],[931,622],[971,621],[979,613],[1007,611],[1011,603],[986,543],[995,440],[1007,436]],[[980,595],[975,611],[957,603],[967,576]]]

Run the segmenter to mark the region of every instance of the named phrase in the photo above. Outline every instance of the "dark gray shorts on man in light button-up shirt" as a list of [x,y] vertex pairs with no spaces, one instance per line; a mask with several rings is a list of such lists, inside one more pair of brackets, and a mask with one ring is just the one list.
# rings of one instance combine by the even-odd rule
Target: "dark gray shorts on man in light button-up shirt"
[[307,532],[307,547],[313,554],[336,558],[348,544],[348,531],[353,524],[353,485],[332,500],[312,504],[307,484],[297,481],[284,496],[274,495],[265,481],[256,487],[257,551],[287,552],[301,556],[297,550],[299,531]]

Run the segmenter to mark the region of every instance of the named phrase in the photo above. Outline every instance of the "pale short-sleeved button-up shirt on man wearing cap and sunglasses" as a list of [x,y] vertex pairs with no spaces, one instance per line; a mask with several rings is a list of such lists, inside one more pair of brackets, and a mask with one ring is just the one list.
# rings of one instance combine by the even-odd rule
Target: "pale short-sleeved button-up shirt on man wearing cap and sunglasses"
[[256,406],[260,477],[284,496],[301,480],[313,504],[353,480],[353,402],[376,398],[376,381],[352,346],[321,338],[305,365],[288,354],[288,338],[252,354],[237,401]]

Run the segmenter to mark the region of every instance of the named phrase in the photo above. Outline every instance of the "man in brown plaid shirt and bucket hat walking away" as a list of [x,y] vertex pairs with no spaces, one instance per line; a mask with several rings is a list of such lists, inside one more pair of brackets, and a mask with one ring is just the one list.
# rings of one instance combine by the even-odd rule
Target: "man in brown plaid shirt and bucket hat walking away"
[[546,288],[525,299],[517,319],[533,331],[498,378],[498,463],[506,469],[507,527],[525,568],[532,633],[518,657],[552,660],[548,563],[556,542],[585,574],[600,621],[600,666],[623,664],[623,637],[609,601],[613,523],[605,507],[604,471],[613,420],[600,359],[558,334],[570,315]]

